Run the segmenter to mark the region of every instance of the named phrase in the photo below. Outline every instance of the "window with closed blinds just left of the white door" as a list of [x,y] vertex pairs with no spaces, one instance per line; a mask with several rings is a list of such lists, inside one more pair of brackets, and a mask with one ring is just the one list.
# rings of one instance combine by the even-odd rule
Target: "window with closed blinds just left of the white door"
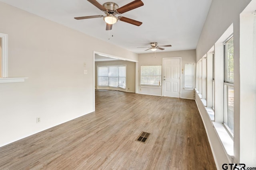
[[141,66],[140,85],[162,86],[162,65]]

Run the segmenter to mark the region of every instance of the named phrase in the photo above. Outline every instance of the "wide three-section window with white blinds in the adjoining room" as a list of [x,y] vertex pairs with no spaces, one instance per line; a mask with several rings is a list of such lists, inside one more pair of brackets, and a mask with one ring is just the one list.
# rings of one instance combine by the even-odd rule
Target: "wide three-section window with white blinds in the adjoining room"
[[98,66],[98,86],[126,88],[126,66]]

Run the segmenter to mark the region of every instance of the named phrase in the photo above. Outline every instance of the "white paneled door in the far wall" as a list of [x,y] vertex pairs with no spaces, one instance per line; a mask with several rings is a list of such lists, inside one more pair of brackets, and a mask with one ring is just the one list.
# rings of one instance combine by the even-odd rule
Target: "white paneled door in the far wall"
[[163,95],[180,98],[180,58],[164,59]]

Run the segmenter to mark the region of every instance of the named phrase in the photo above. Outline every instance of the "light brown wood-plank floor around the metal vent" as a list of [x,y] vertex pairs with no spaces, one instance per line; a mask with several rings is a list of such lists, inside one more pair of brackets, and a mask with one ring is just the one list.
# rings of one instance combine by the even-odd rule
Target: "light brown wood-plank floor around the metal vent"
[[[1,170],[216,170],[194,100],[96,90],[96,111],[0,148]],[[146,143],[135,141],[142,131]]]

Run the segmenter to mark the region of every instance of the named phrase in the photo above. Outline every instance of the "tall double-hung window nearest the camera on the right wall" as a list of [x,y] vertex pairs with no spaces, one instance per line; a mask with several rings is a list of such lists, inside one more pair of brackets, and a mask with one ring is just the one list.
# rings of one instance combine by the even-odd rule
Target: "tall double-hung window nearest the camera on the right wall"
[[224,124],[234,133],[234,43],[224,43]]

